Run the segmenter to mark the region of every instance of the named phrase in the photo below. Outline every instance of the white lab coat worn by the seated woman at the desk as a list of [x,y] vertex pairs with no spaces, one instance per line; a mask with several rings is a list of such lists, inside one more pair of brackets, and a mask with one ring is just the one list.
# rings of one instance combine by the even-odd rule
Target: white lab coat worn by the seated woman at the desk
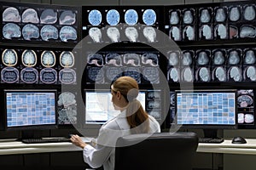
[[[150,133],[160,133],[160,124],[153,116],[149,116],[149,134]],[[102,125],[96,139],[96,146],[87,144],[84,147],[84,161],[93,168],[103,165],[104,170],[113,170],[114,146],[116,140],[128,134],[131,134],[130,126],[126,120],[125,111],[122,111],[119,116],[114,117],[112,120]]]

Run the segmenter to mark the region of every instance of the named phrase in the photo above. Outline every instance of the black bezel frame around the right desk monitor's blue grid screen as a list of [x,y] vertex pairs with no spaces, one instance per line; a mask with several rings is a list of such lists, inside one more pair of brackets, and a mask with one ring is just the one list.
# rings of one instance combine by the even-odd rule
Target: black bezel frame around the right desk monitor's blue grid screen
[[[209,93],[232,93],[235,94],[235,124],[177,124],[177,94],[179,93],[196,93],[196,92],[209,92]],[[180,128],[192,129],[236,129],[237,128],[237,89],[194,89],[194,90],[175,90],[175,125]]]

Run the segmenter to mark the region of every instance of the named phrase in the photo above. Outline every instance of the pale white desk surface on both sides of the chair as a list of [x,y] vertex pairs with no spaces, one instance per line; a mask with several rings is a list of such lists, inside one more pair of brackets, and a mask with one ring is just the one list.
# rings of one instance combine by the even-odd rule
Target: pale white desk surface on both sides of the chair
[[[83,138],[88,142],[91,138]],[[44,152],[78,151],[81,150],[69,142],[47,144],[23,144],[14,139],[0,140],[0,155],[30,154]],[[256,155],[256,139],[247,139],[247,144],[232,144],[231,139],[225,139],[221,144],[200,143],[197,152]]]

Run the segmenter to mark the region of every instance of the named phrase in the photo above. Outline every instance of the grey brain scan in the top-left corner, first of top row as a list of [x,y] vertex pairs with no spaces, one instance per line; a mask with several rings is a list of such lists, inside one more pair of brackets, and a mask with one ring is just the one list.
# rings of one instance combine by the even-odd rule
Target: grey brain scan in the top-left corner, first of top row
[[20,13],[17,8],[9,7],[3,11],[3,21],[6,22],[20,22]]

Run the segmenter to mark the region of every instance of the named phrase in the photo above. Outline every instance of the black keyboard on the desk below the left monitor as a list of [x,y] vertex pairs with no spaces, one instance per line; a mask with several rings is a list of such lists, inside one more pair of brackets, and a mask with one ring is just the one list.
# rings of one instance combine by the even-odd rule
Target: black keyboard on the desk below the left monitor
[[59,142],[71,142],[67,138],[42,138],[42,139],[21,139],[21,142],[25,144],[41,144],[41,143],[59,143]]

